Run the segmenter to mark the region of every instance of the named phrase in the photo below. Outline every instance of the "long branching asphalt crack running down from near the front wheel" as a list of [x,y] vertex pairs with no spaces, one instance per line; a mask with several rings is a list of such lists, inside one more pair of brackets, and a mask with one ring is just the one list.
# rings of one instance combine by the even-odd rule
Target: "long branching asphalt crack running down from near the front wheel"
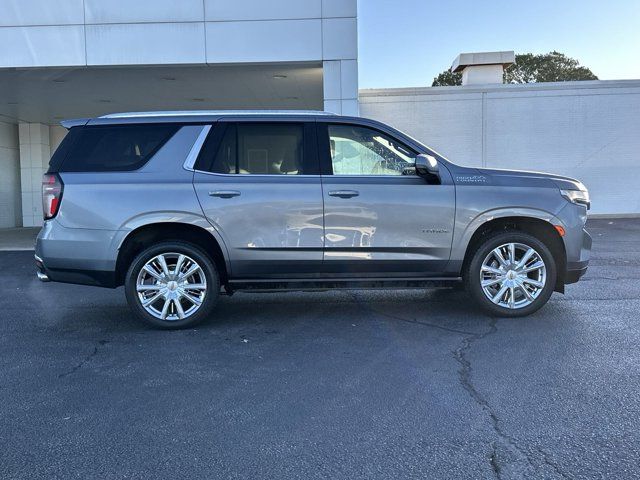
[[[462,343],[460,347],[453,352],[453,356],[456,361],[460,364],[460,369],[458,370],[458,378],[462,387],[467,391],[467,393],[471,396],[471,398],[487,413],[489,419],[491,421],[491,426],[498,436],[498,441],[502,446],[513,456],[516,457],[516,462],[525,461],[534,471],[538,470],[538,466],[534,463],[532,456],[528,453],[524,448],[522,448],[516,440],[506,433],[500,425],[500,418],[496,414],[496,412],[491,408],[487,399],[475,388],[473,382],[471,381],[471,361],[467,358],[467,352],[471,349],[471,346],[474,342],[478,340],[482,340],[489,335],[493,335],[498,331],[497,320],[492,318],[489,323],[489,329],[483,333],[474,333],[462,339]],[[496,442],[491,443],[491,454],[489,456],[489,462],[491,464],[491,469],[498,480],[501,480],[502,474],[504,472],[504,467],[500,463],[500,458],[498,455],[498,446]],[[552,462],[548,455],[540,448],[538,451],[541,453],[543,457],[543,461],[546,465],[548,465],[553,471],[562,478],[571,478],[566,473],[564,473],[554,462]],[[511,462],[513,463],[513,462]],[[527,475],[524,475],[524,478],[527,478]]]

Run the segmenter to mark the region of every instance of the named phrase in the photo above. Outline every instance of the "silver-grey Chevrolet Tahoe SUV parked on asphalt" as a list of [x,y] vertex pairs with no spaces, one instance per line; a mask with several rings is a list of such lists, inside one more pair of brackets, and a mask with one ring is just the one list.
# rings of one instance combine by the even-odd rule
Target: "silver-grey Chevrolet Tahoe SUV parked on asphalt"
[[321,112],[155,112],[62,122],[43,180],[41,280],[124,285],[180,328],[238,290],[464,282],[492,315],[585,273],[578,181],[455,165],[379,122]]

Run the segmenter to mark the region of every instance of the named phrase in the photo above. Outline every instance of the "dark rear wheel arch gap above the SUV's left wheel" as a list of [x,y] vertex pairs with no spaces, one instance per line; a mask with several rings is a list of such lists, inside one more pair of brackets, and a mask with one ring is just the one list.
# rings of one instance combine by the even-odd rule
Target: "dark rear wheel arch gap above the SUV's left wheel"
[[214,262],[223,285],[231,272],[226,248],[213,227],[183,222],[153,222],[137,226],[122,240],[116,260],[116,286],[124,284],[124,278],[133,259],[145,248],[162,241],[189,242],[202,248]]

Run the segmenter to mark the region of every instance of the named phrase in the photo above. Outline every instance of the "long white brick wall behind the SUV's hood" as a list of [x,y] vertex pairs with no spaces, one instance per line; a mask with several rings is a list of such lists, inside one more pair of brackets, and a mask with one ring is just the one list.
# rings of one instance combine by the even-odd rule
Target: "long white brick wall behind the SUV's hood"
[[578,178],[591,213],[640,213],[640,80],[361,90],[360,113],[454,163]]

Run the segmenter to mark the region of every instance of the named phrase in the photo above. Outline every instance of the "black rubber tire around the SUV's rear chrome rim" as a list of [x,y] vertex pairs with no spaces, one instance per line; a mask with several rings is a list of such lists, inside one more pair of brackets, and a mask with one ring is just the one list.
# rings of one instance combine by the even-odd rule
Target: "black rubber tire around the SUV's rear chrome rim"
[[[136,281],[142,268],[154,257],[169,253],[183,254],[193,259],[201,267],[206,278],[206,290],[204,290],[202,304],[192,314],[183,319],[165,320],[157,318],[145,310],[138,297]],[[193,327],[210,315],[220,293],[220,278],[215,264],[200,247],[187,242],[167,241],[146,248],[133,260],[125,277],[124,288],[129,307],[145,324],[161,329],[181,329]],[[162,298],[158,301],[162,302]],[[173,308],[175,308],[175,304]]]

